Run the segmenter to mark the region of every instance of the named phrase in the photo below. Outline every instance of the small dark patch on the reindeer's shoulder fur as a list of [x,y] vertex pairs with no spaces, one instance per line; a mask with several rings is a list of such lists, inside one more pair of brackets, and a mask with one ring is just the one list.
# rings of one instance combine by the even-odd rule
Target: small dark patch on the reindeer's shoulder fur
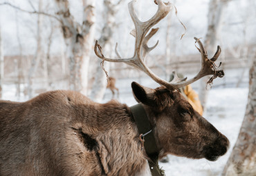
[[90,135],[83,133],[82,128],[79,128],[79,129],[72,128],[72,129],[76,130],[82,143],[88,150],[92,151],[95,147],[98,146],[98,142],[95,139],[93,139]]

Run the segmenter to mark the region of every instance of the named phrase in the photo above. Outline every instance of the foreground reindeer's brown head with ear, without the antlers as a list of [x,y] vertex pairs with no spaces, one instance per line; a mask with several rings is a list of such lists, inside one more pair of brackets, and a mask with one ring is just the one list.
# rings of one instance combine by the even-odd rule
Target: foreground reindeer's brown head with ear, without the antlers
[[201,117],[177,90],[131,84],[134,97],[150,118],[160,157],[167,154],[216,160],[228,149],[228,139]]

